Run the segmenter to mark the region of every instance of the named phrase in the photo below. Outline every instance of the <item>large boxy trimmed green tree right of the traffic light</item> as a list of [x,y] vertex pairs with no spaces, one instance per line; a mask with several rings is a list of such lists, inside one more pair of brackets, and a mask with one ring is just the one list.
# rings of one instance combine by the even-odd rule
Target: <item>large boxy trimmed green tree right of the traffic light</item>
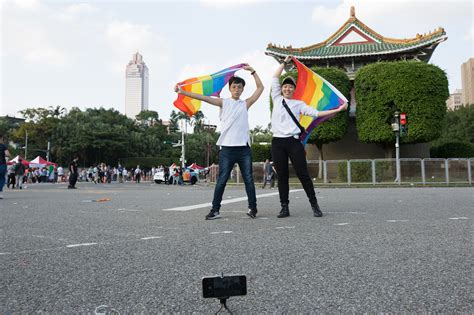
[[429,142],[441,135],[449,96],[448,79],[440,68],[417,61],[367,65],[355,78],[357,132],[365,143],[376,143],[392,156],[395,111],[408,118],[403,143]]

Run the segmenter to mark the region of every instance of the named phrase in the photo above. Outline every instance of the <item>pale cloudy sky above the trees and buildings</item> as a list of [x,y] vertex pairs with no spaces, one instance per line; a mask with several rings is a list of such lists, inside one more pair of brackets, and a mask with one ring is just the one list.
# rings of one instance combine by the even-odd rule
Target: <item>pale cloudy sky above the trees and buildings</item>
[[[474,5],[452,1],[40,1],[0,0],[0,116],[62,106],[125,112],[125,67],[135,52],[149,68],[149,109],[167,120],[177,82],[249,63],[265,86],[250,127],[270,122],[269,87],[277,62],[269,43],[306,47],[356,17],[385,37],[413,38],[443,27],[448,40],[430,63],[461,88],[461,64],[474,57]],[[241,70],[249,97],[255,83]],[[221,96],[228,97],[227,88]],[[203,103],[207,122],[219,109]]]

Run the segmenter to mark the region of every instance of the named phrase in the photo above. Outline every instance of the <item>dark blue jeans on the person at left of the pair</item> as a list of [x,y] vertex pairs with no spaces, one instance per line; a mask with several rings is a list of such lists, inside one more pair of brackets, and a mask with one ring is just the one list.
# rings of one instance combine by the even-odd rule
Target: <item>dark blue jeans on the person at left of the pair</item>
[[219,151],[219,177],[214,189],[214,199],[212,209],[219,211],[221,208],[222,196],[229,179],[234,164],[239,164],[242,177],[245,183],[245,191],[249,203],[249,209],[257,209],[257,197],[255,196],[255,185],[252,175],[252,151],[250,147],[222,147]]

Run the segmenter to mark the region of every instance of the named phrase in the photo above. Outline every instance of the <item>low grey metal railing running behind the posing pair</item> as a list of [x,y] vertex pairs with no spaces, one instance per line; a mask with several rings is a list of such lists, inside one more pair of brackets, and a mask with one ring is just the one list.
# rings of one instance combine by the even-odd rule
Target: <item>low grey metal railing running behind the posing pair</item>
[[[291,163],[290,163],[291,164]],[[401,178],[397,180],[395,159],[357,159],[323,161],[322,171],[317,160],[308,161],[308,171],[313,181],[327,185],[471,185],[474,174],[474,158],[450,159],[400,159]],[[219,166],[210,170],[211,182],[217,180]],[[289,167],[290,183],[299,183],[293,167]],[[321,174],[320,174],[321,173]],[[318,178],[320,175],[320,178]],[[263,162],[253,163],[256,184],[263,180]],[[238,165],[228,183],[243,184]]]

